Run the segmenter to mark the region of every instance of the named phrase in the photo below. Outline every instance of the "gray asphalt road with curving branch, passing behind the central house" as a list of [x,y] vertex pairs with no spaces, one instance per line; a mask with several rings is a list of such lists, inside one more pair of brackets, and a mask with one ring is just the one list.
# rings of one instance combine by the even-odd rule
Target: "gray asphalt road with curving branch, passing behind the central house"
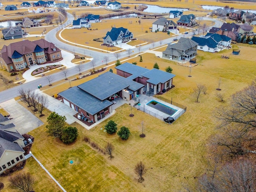
[[[73,22],[73,19],[74,19],[73,16],[71,14],[68,14],[67,22],[62,24],[61,26],[51,30],[50,32],[48,32],[45,36],[45,40],[47,40],[49,42],[52,42],[58,48],[65,49],[65,50],[68,50],[70,52],[74,52],[74,50],[75,50],[76,53],[79,53],[79,54],[84,54],[85,53],[86,55],[90,55],[93,58],[94,67],[102,65],[102,60],[104,60],[103,59],[104,56],[108,56],[108,62],[113,62],[113,61],[116,60],[116,56],[113,53],[97,52],[97,51],[94,51],[94,50],[84,49],[84,48],[80,48],[80,47],[77,47],[77,46],[67,45],[64,42],[60,42],[56,38],[56,33],[61,28],[66,27],[67,25],[71,24]],[[216,20],[216,19],[208,18],[208,17],[203,17],[203,20],[212,20],[212,21],[214,21],[215,22],[214,27],[220,27],[223,23],[220,20]],[[202,30],[200,30],[200,33],[201,32],[202,32]],[[192,32],[189,32],[188,34],[180,35],[180,37],[181,36],[182,37],[192,36]],[[172,40],[174,38],[177,38],[177,36],[162,40],[161,42],[160,41],[159,42],[154,42],[154,46],[153,46],[153,44],[146,44],[144,46],[141,46],[140,52],[144,52],[146,50],[152,49],[153,47],[159,47],[160,45],[169,44],[170,42],[172,42]],[[137,48],[133,48],[132,51],[134,51],[133,54],[138,54],[139,53],[139,50]],[[128,56],[128,53],[126,51],[120,52],[119,59],[127,57],[127,56]],[[92,68],[92,61],[88,62],[88,63],[85,63],[85,64],[82,64],[81,72],[89,70],[91,68]],[[51,81],[51,83],[57,82],[57,81],[63,79],[63,76],[60,75],[60,73],[61,72],[57,72],[57,73],[54,73],[54,74],[51,75],[52,79],[53,79]],[[68,68],[68,77],[69,76],[74,76],[76,74],[78,74],[78,69],[76,67]],[[10,100],[11,98],[14,98],[14,97],[18,96],[19,95],[18,90],[20,90],[21,88],[23,88],[24,90],[35,90],[35,89],[37,89],[37,86],[39,84],[41,84],[42,86],[47,86],[49,84],[49,82],[46,79],[46,77],[42,77],[40,79],[27,82],[27,83],[22,84],[20,86],[16,86],[16,87],[10,88],[8,90],[4,90],[4,91],[0,92],[0,103],[4,102],[6,100]]]

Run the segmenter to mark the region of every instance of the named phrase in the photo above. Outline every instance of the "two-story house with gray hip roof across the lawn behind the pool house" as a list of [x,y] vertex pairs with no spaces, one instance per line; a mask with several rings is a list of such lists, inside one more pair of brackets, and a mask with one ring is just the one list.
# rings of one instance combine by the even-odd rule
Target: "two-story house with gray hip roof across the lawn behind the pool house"
[[198,43],[189,38],[181,37],[177,43],[168,44],[162,57],[170,60],[189,60],[196,56]]

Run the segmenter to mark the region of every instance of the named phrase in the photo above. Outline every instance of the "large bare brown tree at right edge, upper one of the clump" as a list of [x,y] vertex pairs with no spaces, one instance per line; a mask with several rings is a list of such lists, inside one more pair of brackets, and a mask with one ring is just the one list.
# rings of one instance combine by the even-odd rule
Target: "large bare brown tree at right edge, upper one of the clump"
[[217,109],[222,133],[214,138],[223,154],[228,156],[255,152],[256,81],[232,96],[230,106]]

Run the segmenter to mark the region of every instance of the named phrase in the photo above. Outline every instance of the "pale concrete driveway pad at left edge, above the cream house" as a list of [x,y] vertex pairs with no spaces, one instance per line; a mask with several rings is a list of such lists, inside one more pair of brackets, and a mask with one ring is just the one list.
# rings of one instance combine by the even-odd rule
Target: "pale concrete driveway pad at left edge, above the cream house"
[[10,114],[9,118],[12,118],[10,123],[15,125],[16,130],[18,130],[20,134],[30,132],[44,124],[14,99],[3,102],[0,106]]

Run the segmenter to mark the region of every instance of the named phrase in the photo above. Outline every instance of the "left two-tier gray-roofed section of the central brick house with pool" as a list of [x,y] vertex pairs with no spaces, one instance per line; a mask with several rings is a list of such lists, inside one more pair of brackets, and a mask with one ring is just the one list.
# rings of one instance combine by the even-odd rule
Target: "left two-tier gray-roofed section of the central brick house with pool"
[[62,102],[83,114],[89,120],[97,122],[112,113],[114,99],[130,100],[136,94],[142,94],[144,85],[126,79],[112,72],[60,92]]

